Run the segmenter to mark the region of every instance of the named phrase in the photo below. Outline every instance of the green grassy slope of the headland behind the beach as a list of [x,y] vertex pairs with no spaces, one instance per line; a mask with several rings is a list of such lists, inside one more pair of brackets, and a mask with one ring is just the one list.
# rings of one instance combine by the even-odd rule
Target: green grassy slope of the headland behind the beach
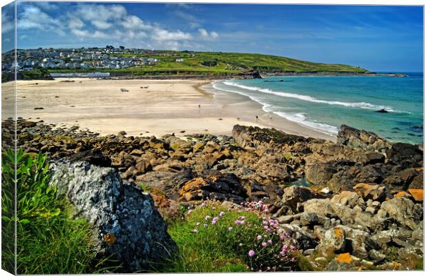
[[[259,72],[367,72],[367,70],[343,65],[314,63],[278,57],[273,55],[244,54],[236,52],[196,52],[195,56],[186,51],[157,51],[156,55],[119,54],[124,57],[146,57],[160,59],[151,66],[135,66],[121,69],[50,69],[50,72],[110,72],[119,75],[226,75],[237,74],[249,70]],[[171,56],[166,56],[171,55]],[[175,62],[182,58],[183,62]],[[215,66],[204,66],[215,64]]]

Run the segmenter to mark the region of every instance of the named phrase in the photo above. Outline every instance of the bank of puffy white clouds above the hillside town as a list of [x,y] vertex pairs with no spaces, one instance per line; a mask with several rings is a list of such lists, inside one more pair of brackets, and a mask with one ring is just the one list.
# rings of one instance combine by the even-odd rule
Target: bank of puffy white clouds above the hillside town
[[[129,14],[121,5],[79,3],[70,9],[56,9],[55,17],[52,17],[48,10],[53,10],[55,7],[22,4],[19,10],[19,30],[68,33],[74,39],[101,45],[106,43],[171,50],[191,49],[199,45],[195,40],[196,37],[202,38],[203,41],[219,37],[217,32],[208,32],[204,28],[193,32],[171,30],[159,23],[147,22],[141,17]],[[193,15],[187,13],[180,15],[191,19],[192,28],[200,27],[202,21]],[[5,26],[6,24],[3,23]],[[6,28],[10,27],[6,26]],[[4,29],[3,26],[3,32]]]

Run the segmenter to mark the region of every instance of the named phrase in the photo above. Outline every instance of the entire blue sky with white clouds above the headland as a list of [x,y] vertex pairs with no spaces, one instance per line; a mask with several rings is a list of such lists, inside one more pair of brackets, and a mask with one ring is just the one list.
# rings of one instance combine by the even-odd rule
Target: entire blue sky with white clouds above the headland
[[[5,18],[3,8],[3,38]],[[423,70],[421,6],[19,2],[17,18],[18,48],[257,52],[373,71]]]

